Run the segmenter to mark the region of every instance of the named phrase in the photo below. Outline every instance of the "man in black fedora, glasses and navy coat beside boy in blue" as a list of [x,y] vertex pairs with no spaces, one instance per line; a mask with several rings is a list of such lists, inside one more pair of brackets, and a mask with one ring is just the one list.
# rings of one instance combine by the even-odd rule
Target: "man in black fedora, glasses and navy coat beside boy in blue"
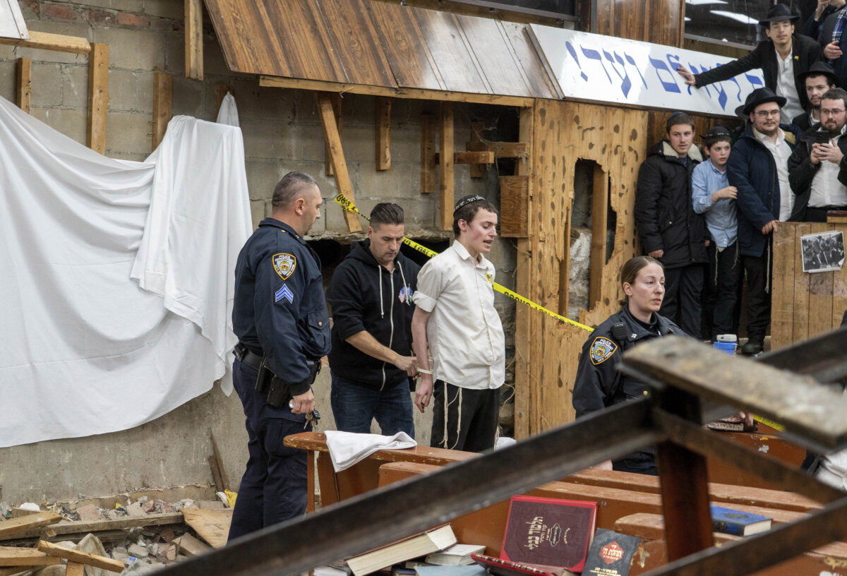
[[772,233],[792,208],[788,159],[799,131],[780,124],[784,104],[770,88],[750,92],[742,108],[749,121],[727,163],[729,184],[738,191],[739,255],[747,274],[745,354],[761,352],[771,323]]

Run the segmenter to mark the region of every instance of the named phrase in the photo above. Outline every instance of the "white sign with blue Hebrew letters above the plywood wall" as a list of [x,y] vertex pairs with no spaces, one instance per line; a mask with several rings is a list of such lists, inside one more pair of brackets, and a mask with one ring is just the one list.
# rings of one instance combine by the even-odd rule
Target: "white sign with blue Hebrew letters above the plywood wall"
[[734,116],[765,86],[761,69],[701,88],[686,86],[676,71],[683,65],[699,74],[732,61],[724,56],[550,26],[529,30],[563,98]]

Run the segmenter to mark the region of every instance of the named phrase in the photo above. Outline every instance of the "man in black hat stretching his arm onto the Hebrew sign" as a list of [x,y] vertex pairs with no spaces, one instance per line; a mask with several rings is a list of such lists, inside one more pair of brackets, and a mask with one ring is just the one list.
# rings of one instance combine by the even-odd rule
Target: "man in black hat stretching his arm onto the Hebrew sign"
[[693,75],[684,66],[677,72],[689,86],[701,88],[713,82],[729,80],[734,76],[761,68],[765,86],[786,100],[784,116],[792,119],[803,113],[808,106],[805,86],[796,80],[796,75],[805,72],[812,63],[821,59],[821,45],[800,34],[794,34],[794,22],[800,16],[791,14],[784,4],[774,4],[767,9],[767,17],[759,21],[767,40],[744,58],[722,64],[717,68]]

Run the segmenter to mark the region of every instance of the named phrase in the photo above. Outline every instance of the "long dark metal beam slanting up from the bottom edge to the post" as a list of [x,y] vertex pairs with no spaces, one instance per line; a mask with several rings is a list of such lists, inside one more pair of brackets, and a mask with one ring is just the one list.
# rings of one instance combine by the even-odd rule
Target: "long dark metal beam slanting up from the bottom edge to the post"
[[667,440],[650,424],[650,396],[434,474],[399,482],[249,534],[165,568],[162,576],[296,576],[383,546],[606,459]]

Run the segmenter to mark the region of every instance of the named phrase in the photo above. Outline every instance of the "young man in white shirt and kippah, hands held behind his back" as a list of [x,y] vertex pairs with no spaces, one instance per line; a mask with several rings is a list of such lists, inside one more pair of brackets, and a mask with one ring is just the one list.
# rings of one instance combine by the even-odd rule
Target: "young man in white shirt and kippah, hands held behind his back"
[[494,307],[494,265],[484,255],[497,235],[497,219],[491,202],[462,197],[453,212],[456,241],[418,274],[412,349],[421,380],[415,406],[424,412],[433,402],[435,447],[494,447],[506,346]]

